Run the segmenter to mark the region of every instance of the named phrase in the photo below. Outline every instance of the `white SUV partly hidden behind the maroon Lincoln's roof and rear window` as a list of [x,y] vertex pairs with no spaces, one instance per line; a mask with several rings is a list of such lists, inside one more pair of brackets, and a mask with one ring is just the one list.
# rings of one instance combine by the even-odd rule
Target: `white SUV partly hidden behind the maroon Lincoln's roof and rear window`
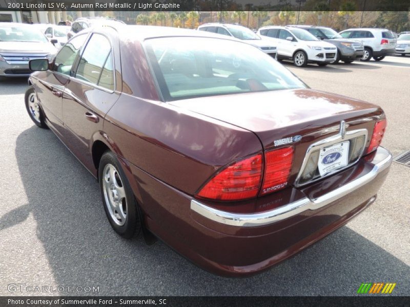
[[262,40],[252,30],[246,27],[233,24],[210,23],[199,26],[198,30],[235,37],[276,58],[276,45]]

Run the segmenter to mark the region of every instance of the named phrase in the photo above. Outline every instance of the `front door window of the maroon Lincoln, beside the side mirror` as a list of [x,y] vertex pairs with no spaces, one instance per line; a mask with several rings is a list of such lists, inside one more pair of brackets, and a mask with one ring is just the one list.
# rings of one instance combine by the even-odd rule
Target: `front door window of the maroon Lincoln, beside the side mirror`
[[74,37],[66,43],[66,45],[57,53],[52,70],[70,76],[75,58],[81,47],[83,47],[86,39],[87,35],[83,34]]

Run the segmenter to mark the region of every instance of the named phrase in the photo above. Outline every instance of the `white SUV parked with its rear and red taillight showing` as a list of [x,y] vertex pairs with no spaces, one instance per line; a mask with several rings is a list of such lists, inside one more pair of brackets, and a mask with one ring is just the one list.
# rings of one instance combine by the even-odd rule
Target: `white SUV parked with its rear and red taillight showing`
[[372,57],[376,61],[384,59],[386,55],[396,52],[396,38],[392,31],[387,29],[358,28],[347,29],[339,33],[343,38],[361,41],[364,45],[362,61]]

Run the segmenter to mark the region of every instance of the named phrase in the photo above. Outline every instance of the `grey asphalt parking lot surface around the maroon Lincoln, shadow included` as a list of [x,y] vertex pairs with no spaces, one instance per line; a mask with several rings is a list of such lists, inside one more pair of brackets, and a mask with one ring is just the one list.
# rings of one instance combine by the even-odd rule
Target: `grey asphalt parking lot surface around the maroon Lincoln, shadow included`
[[[284,65],[313,89],[381,105],[383,145],[394,155],[410,149],[410,57]],[[377,202],[311,248],[257,276],[222,278],[161,242],[117,236],[95,179],[29,119],[26,87],[24,79],[0,82],[0,295],[41,294],[10,293],[17,283],[95,286],[99,295],[354,295],[361,282],[397,282],[393,294],[408,295],[410,168],[393,163]]]

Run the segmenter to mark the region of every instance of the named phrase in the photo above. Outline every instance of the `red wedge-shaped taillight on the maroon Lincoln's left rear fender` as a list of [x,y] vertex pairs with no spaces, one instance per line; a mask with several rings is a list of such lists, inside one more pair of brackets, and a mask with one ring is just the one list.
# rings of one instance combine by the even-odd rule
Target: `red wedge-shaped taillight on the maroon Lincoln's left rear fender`
[[200,198],[237,201],[257,196],[262,178],[262,155],[245,158],[216,174],[197,194]]

